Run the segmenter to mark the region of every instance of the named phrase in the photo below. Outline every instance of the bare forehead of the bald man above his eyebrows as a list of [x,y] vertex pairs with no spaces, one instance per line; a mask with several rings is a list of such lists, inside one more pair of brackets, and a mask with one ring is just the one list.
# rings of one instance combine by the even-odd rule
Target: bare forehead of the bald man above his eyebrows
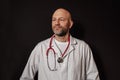
[[53,18],[60,18],[60,17],[63,17],[63,18],[70,18],[70,13],[64,9],[58,9],[54,12]]

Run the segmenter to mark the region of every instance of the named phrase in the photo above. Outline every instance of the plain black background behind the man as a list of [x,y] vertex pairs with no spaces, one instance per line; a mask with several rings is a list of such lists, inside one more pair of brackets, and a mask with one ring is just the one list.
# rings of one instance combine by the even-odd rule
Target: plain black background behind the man
[[101,80],[120,78],[119,2],[112,0],[1,0],[0,80],[18,80],[35,45],[53,34],[55,9],[68,9],[71,34],[86,41]]

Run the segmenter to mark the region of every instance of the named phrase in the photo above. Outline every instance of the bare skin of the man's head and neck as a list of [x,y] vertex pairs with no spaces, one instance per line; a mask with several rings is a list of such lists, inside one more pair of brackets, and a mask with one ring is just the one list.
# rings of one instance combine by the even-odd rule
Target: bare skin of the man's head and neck
[[52,16],[52,30],[55,34],[55,39],[61,42],[68,41],[69,30],[73,25],[71,14],[69,11],[59,8]]

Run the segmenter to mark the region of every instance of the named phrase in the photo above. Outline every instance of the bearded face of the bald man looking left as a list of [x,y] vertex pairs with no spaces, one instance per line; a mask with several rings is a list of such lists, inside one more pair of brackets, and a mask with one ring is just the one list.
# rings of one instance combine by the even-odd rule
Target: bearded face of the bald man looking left
[[58,36],[64,36],[71,28],[70,15],[64,10],[58,10],[52,17],[52,30]]

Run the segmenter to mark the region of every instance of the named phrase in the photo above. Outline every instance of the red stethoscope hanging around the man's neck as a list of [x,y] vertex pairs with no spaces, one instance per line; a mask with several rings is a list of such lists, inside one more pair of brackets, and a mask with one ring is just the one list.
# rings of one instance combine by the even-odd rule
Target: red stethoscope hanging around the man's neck
[[[47,49],[47,52],[46,52],[46,56],[47,56],[47,65],[48,65],[48,68],[49,68],[49,70],[50,71],[56,71],[57,70],[57,68],[56,68],[56,52],[55,52],[55,50],[52,48],[52,41],[53,41],[53,38],[55,37],[55,35],[53,35],[52,37],[51,37],[51,39],[50,39],[50,44],[49,44],[49,48]],[[70,45],[70,36],[68,37],[68,45],[67,45],[67,47],[66,47],[66,49],[65,49],[65,51],[62,53],[62,55],[61,55],[61,57],[59,57],[58,59],[57,59],[57,62],[58,63],[63,63],[63,59],[64,59],[64,55],[65,55],[65,53],[67,52],[67,50],[68,50],[68,47],[69,47],[69,45]],[[51,68],[50,67],[50,65],[49,65],[49,59],[48,59],[48,54],[49,54],[49,51],[52,51],[53,52],[53,54],[54,54],[54,61],[55,61],[55,65],[54,65],[54,68]]]

